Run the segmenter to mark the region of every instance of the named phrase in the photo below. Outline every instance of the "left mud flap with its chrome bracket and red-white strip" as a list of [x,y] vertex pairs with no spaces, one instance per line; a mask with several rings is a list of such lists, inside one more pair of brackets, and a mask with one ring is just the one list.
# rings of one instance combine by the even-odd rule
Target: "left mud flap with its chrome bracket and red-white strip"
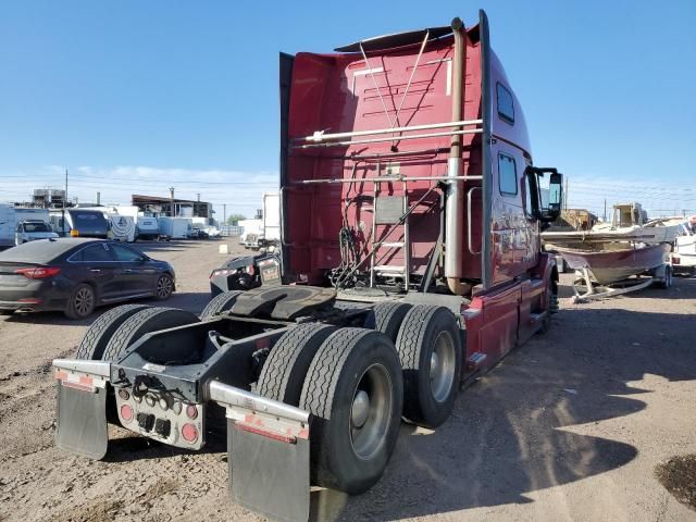
[[[104,376],[109,375],[109,363],[55,360],[53,366],[58,380],[57,446],[90,459],[103,459],[109,445],[108,377]],[[90,372],[79,371],[78,368],[89,369]]]

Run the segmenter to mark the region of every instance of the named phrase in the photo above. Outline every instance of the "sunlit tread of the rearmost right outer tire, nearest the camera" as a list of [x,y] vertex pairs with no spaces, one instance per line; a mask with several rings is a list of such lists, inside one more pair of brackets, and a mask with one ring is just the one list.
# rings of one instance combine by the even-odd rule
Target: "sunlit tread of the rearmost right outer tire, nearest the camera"
[[352,347],[373,331],[365,328],[340,328],[321,346],[307,372],[300,405],[310,413],[331,419],[336,381]]

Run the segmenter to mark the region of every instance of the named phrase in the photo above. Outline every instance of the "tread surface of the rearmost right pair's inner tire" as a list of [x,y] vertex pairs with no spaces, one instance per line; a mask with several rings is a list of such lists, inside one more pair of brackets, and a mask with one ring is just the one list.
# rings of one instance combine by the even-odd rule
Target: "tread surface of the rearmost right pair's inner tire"
[[285,401],[286,388],[300,352],[308,347],[311,349],[311,345],[314,345],[315,353],[319,349],[318,345],[321,345],[335,331],[335,326],[308,323],[286,332],[275,344],[263,364],[257,383],[257,393],[270,399]]

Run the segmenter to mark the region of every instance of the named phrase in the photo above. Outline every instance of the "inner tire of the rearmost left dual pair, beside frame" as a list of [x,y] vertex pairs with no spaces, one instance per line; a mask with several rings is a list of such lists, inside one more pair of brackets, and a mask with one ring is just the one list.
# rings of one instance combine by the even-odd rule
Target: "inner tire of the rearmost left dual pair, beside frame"
[[140,310],[116,328],[107,344],[102,359],[117,361],[145,334],[197,322],[199,319],[194,313],[176,308],[153,307]]

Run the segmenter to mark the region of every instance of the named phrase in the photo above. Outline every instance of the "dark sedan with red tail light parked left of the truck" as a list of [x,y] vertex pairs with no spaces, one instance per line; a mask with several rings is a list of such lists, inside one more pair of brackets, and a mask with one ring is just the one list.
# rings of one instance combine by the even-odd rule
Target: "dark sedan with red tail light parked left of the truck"
[[0,314],[60,310],[71,319],[96,307],[175,290],[171,264],[103,239],[58,238],[0,252]]

